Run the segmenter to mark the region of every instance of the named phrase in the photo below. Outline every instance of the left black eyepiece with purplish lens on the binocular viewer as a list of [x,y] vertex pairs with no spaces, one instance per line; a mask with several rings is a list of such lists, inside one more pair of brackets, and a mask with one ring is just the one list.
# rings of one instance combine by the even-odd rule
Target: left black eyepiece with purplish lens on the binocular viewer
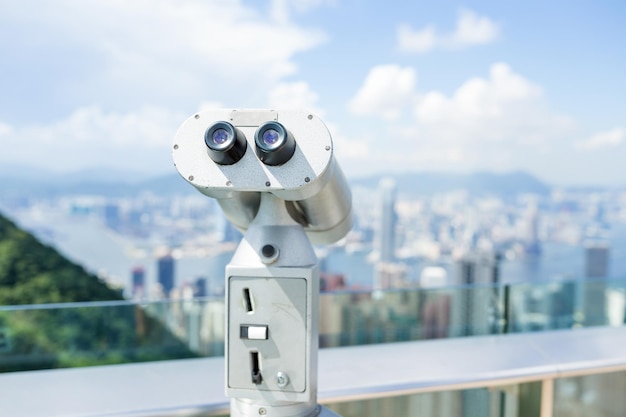
[[220,165],[232,165],[246,153],[247,141],[243,133],[228,122],[217,122],[204,133],[209,156]]

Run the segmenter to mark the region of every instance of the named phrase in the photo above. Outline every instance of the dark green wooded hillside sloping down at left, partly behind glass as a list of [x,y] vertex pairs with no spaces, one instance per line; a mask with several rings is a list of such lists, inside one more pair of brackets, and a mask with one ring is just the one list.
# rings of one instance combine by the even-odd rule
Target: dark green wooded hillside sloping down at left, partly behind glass
[[114,300],[118,291],[0,215],[0,372],[194,356],[140,306],[10,307]]

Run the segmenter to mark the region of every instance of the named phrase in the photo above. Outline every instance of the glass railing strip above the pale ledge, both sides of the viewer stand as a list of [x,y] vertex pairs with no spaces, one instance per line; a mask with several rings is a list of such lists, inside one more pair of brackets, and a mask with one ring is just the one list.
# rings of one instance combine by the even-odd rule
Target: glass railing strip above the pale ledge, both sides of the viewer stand
[[[622,326],[626,280],[320,295],[320,346]],[[0,371],[224,354],[224,298],[0,306]]]

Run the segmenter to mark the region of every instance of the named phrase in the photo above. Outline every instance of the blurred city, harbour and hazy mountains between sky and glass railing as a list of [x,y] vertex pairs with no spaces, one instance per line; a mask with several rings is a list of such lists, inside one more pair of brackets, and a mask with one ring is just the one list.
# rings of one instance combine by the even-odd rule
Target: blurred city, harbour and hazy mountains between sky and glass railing
[[[48,177],[50,178],[50,177]],[[52,181],[52,180],[50,180]],[[140,183],[26,181],[2,209],[129,299],[223,295],[241,239],[217,203],[176,174]],[[318,247],[323,290],[548,282],[626,274],[626,191],[508,175],[352,181],[355,225]],[[469,278],[464,263],[492,265]]]

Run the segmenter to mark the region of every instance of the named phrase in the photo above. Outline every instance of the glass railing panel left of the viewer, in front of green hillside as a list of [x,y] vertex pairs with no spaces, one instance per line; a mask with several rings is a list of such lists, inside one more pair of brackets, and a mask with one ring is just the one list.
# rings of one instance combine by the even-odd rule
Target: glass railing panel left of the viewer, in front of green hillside
[[2,307],[0,372],[222,355],[223,311],[218,300]]

